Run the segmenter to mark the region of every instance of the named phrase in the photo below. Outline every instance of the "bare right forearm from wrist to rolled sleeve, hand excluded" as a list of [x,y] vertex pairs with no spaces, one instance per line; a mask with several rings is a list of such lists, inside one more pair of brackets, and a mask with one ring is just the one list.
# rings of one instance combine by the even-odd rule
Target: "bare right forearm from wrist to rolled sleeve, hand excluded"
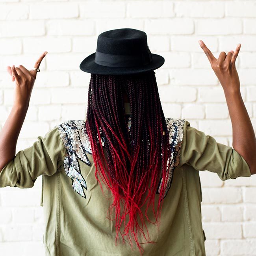
[[252,174],[256,173],[256,139],[250,117],[240,90],[224,91],[232,122],[233,148],[247,161]]

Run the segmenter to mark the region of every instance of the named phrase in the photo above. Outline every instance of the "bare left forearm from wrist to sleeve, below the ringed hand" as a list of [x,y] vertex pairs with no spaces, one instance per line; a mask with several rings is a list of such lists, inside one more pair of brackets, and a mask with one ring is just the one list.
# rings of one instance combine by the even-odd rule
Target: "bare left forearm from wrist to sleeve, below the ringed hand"
[[0,131],[0,171],[15,157],[17,140],[27,110],[27,106],[13,106]]

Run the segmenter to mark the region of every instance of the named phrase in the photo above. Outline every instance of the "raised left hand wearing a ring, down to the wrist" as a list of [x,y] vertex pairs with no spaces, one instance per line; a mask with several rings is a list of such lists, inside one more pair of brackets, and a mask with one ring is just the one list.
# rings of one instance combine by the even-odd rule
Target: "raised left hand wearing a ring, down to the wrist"
[[[39,69],[41,61],[45,58],[47,52],[41,54],[39,59],[35,62],[34,68]],[[12,76],[12,81],[15,81],[15,93],[14,93],[14,106],[28,107],[30,96],[32,93],[33,85],[37,76],[36,70],[28,70],[22,65],[19,67],[7,66],[7,71]]]

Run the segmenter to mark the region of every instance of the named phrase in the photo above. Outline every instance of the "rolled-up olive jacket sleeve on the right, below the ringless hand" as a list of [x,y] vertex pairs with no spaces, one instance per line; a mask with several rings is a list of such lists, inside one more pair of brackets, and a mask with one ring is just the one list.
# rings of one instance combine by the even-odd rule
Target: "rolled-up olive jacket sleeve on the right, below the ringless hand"
[[186,120],[179,165],[185,163],[198,171],[217,173],[221,180],[251,176],[248,163],[234,148],[216,142],[210,135],[191,127]]

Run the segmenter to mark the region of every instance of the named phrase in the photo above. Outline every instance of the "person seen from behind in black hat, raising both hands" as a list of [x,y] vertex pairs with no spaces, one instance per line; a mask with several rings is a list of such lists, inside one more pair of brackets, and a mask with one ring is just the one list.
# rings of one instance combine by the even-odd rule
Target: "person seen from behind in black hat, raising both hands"
[[35,73],[8,68],[17,96],[0,134],[0,187],[30,188],[43,176],[47,256],[206,255],[199,171],[250,177],[256,143],[235,68],[240,47],[218,59],[201,47],[224,88],[235,148],[165,116],[154,71],[165,59],[145,32],[119,28],[100,33],[79,64],[91,74],[86,117],[60,122],[13,157]]

